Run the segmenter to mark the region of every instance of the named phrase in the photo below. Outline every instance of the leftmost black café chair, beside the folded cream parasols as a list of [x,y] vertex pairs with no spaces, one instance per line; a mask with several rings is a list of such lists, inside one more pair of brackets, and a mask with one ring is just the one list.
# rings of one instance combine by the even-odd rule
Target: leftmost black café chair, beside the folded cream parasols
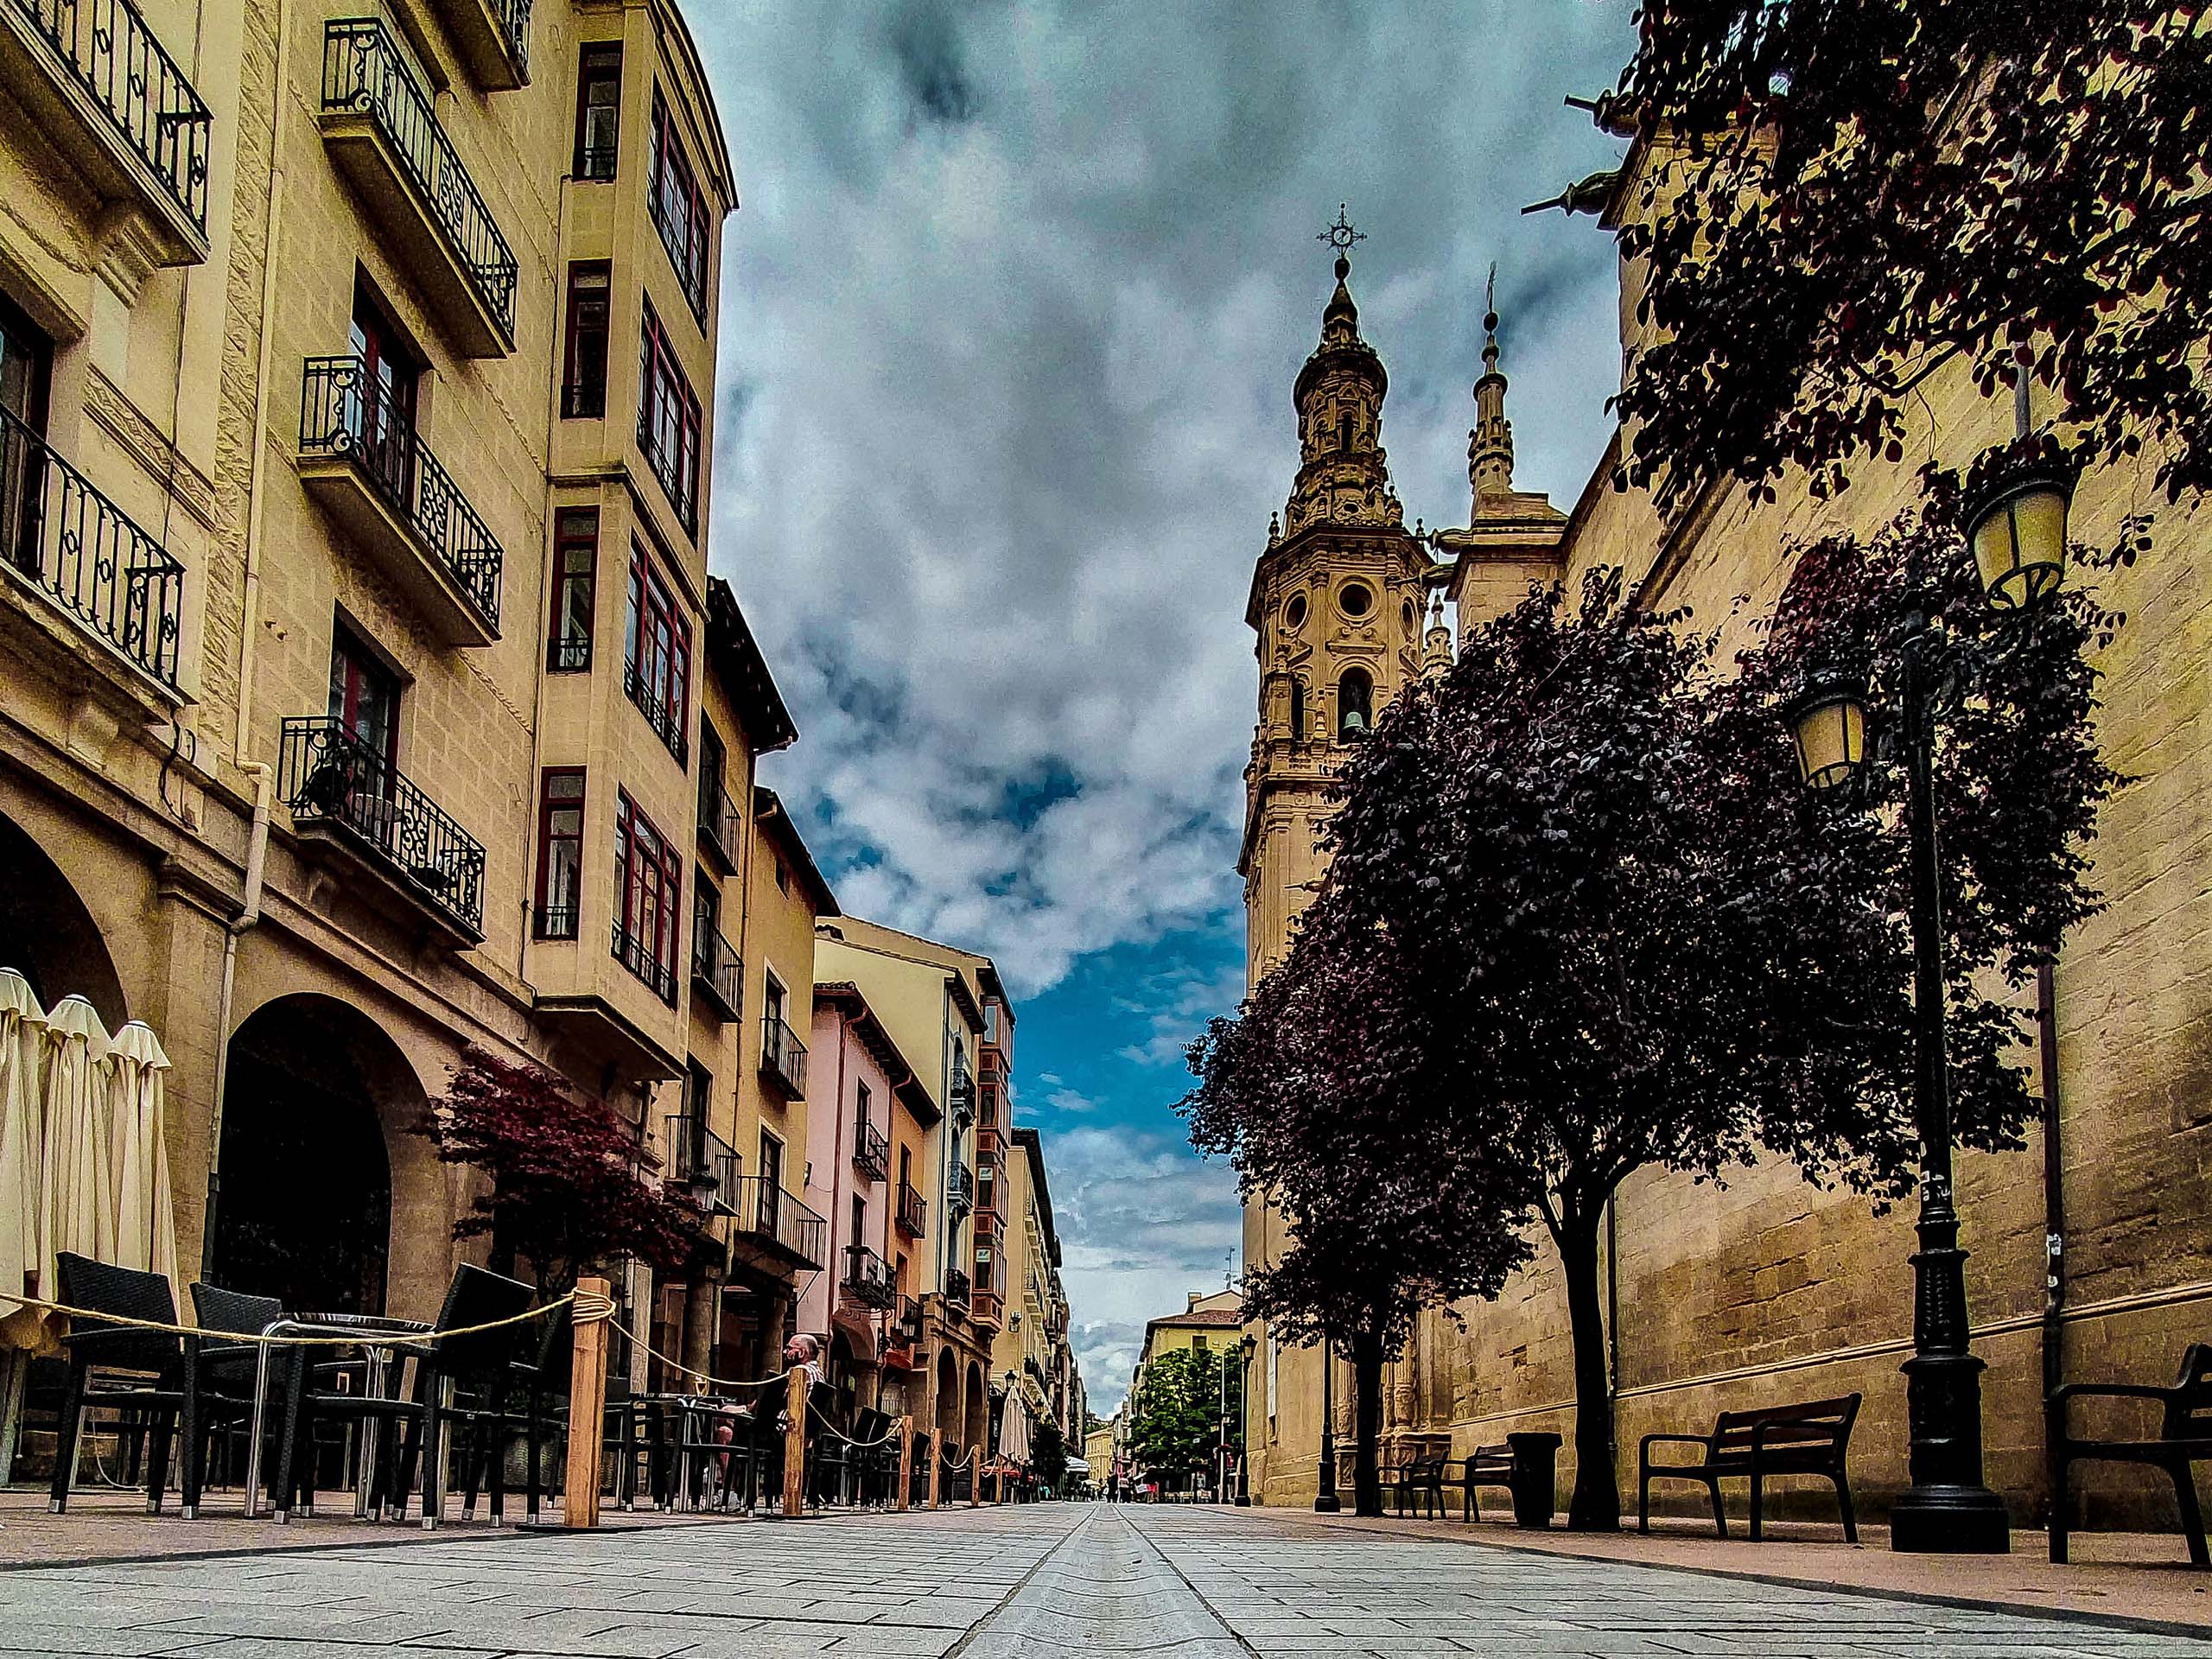
[[[58,1256],[62,1301],[86,1314],[144,1318],[157,1325],[177,1323],[177,1298],[164,1274],[117,1267],[71,1252]],[[168,1453],[177,1444],[179,1493],[184,1513],[199,1509],[199,1447],[204,1413],[248,1413],[248,1398],[208,1387],[208,1354],[192,1338],[188,1349],[170,1332],[148,1332],[100,1318],[75,1318],[62,1338],[69,1347],[69,1383],[62,1389],[62,1413],[53,1449],[53,1486],[49,1506],[55,1515],[69,1509],[69,1484],[77,1473],[77,1433],[84,1413],[137,1411],[150,1425],[146,1455],[146,1513],[161,1513],[161,1491],[168,1484]],[[119,1374],[119,1376],[117,1376]]]

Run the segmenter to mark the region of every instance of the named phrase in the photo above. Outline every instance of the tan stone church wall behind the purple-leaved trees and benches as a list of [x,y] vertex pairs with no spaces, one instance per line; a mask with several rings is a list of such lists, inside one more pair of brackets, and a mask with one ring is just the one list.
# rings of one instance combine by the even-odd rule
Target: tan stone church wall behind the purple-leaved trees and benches
[[[1639,201],[1648,170],[1668,164],[1663,144],[1624,137],[1628,155],[1601,192],[1608,228]],[[1637,292],[1639,272],[1624,268],[1624,349],[1637,343]],[[1871,533],[1913,504],[1920,460],[1962,467],[2013,429],[2008,398],[1982,398],[1958,372],[1927,385],[1905,445],[1913,460],[1860,465],[1840,500],[1814,500],[1794,480],[1778,502],[1754,507],[1721,484],[1661,515],[1646,493],[1610,487],[1621,447],[1615,434],[1582,495],[1559,511],[1513,487],[1504,392],[1493,338],[1475,387],[1469,522],[1438,533],[1442,557],[1429,573],[1455,602],[1462,630],[1515,604],[1531,580],[1573,586],[1593,566],[1619,566],[1637,604],[1690,606],[1699,624],[1741,635],[1781,597],[1792,546],[1843,529]],[[2212,1296],[2212,991],[2203,947],[2212,938],[2212,841],[2201,812],[2212,754],[2201,672],[2212,606],[2199,509],[2166,507],[2148,473],[2093,473],[2075,495],[2077,540],[2106,544],[2124,515],[2152,513],[2154,551],[2104,584],[2106,604],[2128,624],[2097,664],[2106,672],[2099,737],[2110,763],[2135,779],[2104,807],[2090,849],[2108,909],[2068,942],[2048,995],[2031,989],[2020,1009],[2024,1031],[2051,1044],[2039,1051],[2057,1055],[2048,1075],[2037,1073],[2048,1128],[2031,1130],[2020,1152],[1962,1155],[1958,1166],[1973,1340],[1989,1363],[1986,1478],[2017,1522],[2048,1513],[2046,1365],[2068,1380],[2168,1383],[2181,1347],[2201,1338]],[[1254,622],[1265,619],[1272,557],[1270,549],[1254,580]],[[1732,613],[1739,597],[1747,604]],[[1276,635],[1263,628],[1254,803],[1270,790],[1303,787],[1298,779],[1310,770],[1272,737],[1283,726],[1274,712],[1274,646]],[[1248,880],[1267,869],[1252,847],[1248,830]],[[1301,880],[1312,878],[1310,869]],[[1279,960],[1285,916],[1296,905],[1276,883],[1254,883],[1250,905],[1256,978]],[[1248,1261],[1267,1259],[1276,1239],[1270,1223],[1263,1210],[1248,1210]],[[1730,1407],[1860,1391],[1854,1484],[1865,1509],[1887,1509],[1907,1484],[1898,1365],[1911,1352],[1909,1214],[1878,1219],[1863,1199],[1816,1190],[1787,1166],[1736,1172],[1725,1188],[1644,1172],[1617,1194],[1606,1239],[1617,1471],[1630,1504],[1644,1433],[1697,1431]],[[1387,1433],[1400,1444],[1467,1453],[1515,1429],[1568,1431],[1573,1363],[1551,1250],[1495,1303],[1455,1312],[1464,1329],[1442,1310],[1431,1312],[1394,1363]],[[1254,1334],[1265,1345],[1265,1329]],[[1272,1345],[1265,1352],[1254,1378],[1254,1500],[1310,1502],[1318,1358],[1276,1354]],[[1340,1369],[1336,1429],[1345,1458],[1347,1385]],[[1562,1493],[1571,1482],[1568,1433]],[[2093,1526],[2172,1524],[2172,1493],[2159,1475],[2088,1464],[2075,1475],[2075,1493]],[[1661,1506],[1697,1500],[1688,1486],[1657,1493]],[[1778,1513],[1834,1515],[1825,1491],[1785,1493],[1778,1502]]]

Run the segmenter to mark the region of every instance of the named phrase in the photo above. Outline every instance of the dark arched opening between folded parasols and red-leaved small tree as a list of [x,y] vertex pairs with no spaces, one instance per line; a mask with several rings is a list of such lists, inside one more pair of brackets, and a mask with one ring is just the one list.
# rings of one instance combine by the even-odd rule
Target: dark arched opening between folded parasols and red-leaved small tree
[[358,1009],[310,993],[254,1009],[230,1037],[208,1279],[294,1312],[387,1312],[403,1237],[449,1252],[442,1188],[394,1190],[394,1168],[422,1166],[394,1148],[427,1113],[414,1066]]

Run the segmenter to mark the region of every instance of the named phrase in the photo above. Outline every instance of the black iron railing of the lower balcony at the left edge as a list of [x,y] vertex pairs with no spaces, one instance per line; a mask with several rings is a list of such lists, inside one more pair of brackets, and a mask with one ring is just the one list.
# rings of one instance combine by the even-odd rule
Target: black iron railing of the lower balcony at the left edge
[[164,686],[177,686],[184,564],[0,409],[0,557]]

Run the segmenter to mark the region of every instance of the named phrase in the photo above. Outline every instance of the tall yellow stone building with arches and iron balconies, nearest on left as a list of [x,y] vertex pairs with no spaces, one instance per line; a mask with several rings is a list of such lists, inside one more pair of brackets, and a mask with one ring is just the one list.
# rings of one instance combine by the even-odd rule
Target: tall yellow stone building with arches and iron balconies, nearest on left
[[[672,0],[113,11],[0,15],[0,962],[166,1044],[179,1281],[429,1316],[471,1044],[668,1179],[803,1144],[765,975],[805,1031],[834,900],[706,575],[734,170]],[[719,1276],[622,1290],[717,1352]]]

